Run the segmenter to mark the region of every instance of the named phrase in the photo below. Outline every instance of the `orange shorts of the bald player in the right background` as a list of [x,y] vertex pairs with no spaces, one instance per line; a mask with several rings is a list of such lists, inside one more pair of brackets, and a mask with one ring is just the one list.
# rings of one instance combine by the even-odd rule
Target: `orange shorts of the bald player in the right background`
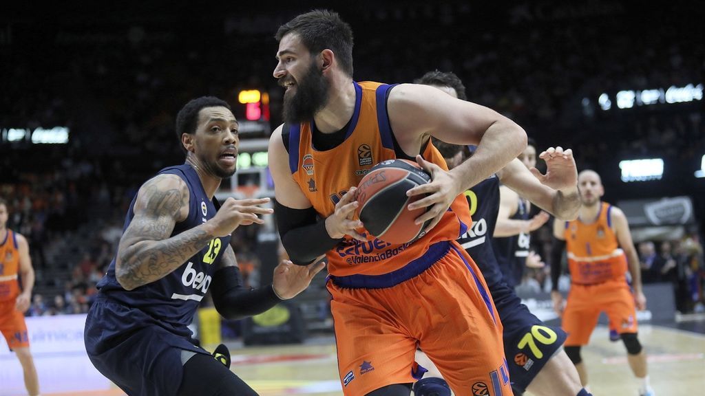
[[561,324],[568,333],[565,345],[587,345],[600,312],[607,315],[618,333],[637,333],[634,295],[624,278],[596,285],[572,284]]

